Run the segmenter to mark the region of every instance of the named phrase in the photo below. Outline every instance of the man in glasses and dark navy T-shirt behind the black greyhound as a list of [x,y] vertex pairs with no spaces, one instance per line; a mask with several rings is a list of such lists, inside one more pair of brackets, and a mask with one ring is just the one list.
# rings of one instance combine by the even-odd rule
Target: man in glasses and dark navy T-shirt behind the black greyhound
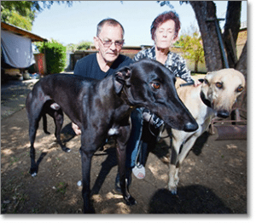
[[[122,66],[129,66],[133,60],[120,54],[124,44],[124,33],[124,27],[117,20],[102,20],[97,25],[96,37],[93,39],[98,53],[80,59],[74,68],[74,75],[101,80],[112,75]],[[75,123],[72,126],[76,134],[81,134],[81,130]],[[127,165],[131,170],[129,161]],[[131,183],[131,180],[129,180],[129,183]],[[115,180],[115,190],[120,191],[119,174]]]

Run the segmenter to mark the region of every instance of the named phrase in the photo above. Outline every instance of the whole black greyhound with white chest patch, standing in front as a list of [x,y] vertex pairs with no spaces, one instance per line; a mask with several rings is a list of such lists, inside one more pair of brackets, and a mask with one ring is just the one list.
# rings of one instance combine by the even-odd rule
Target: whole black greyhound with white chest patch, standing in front
[[[120,187],[127,204],[136,201],[129,193],[125,182],[125,149],[131,132],[130,114],[136,107],[146,107],[162,118],[173,129],[195,131],[195,119],[177,96],[175,77],[171,71],[155,60],[140,60],[131,66],[116,71],[113,76],[101,81],[82,77],[54,74],[42,78],[35,84],[26,99],[31,141],[31,174],[38,172],[35,163],[34,141],[40,118],[49,105],[56,103],[61,110],[56,112],[55,123],[63,121],[62,110],[82,131],[81,159],[84,198],[84,213],[90,213],[90,164],[94,152],[102,146],[109,135],[117,141]],[[45,105],[45,103],[49,103]],[[46,110],[45,110],[46,107]],[[52,115],[55,117],[55,115]],[[58,139],[61,124],[56,124]],[[58,140],[61,141],[61,140]],[[61,146],[68,152],[68,149]]]

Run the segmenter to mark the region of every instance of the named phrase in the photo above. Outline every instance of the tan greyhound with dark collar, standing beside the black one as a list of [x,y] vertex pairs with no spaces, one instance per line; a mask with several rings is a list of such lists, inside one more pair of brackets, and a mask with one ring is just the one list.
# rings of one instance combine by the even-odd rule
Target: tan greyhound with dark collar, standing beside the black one
[[[176,86],[179,86],[181,81],[177,80]],[[199,128],[190,133],[172,129],[172,157],[168,189],[173,194],[177,193],[178,169],[195,140],[208,129],[212,117],[230,116],[232,106],[244,87],[244,76],[234,69],[208,72],[203,83],[197,87],[177,87],[177,94],[195,117]]]

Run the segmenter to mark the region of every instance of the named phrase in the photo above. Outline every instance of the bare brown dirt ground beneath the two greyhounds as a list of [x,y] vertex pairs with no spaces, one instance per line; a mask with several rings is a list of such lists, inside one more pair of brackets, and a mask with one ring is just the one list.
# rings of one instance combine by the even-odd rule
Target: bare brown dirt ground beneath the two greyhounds
[[[48,118],[49,132],[54,123]],[[2,119],[2,214],[81,214],[80,137],[73,137],[65,117],[63,140],[72,152],[62,152],[54,134],[38,129],[38,176],[30,168],[26,109]],[[169,140],[149,153],[146,177],[132,177],[131,194],[137,205],[127,206],[113,193],[117,173],[114,148],[96,152],[91,168],[92,201],[96,214],[247,214],[247,140],[216,140],[203,134],[185,159],[177,195],[167,191]]]

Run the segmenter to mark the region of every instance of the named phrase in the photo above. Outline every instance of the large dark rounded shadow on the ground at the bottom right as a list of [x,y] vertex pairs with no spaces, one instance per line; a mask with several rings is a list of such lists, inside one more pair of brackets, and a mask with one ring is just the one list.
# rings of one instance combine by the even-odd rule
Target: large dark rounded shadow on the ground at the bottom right
[[149,203],[150,214],[232,214],[222,200],[205,186],[183,186],[178,195],[166,189],[154,193]]

